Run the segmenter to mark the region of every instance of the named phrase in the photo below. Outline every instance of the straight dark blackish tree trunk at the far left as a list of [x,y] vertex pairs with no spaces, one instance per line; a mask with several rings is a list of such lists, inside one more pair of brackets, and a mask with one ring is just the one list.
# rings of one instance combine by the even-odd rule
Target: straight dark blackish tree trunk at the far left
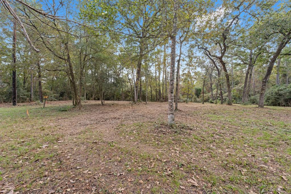
[[13,39],[12,39],[12,104],[17,105],[16,92],[16,21],[13,21]]

